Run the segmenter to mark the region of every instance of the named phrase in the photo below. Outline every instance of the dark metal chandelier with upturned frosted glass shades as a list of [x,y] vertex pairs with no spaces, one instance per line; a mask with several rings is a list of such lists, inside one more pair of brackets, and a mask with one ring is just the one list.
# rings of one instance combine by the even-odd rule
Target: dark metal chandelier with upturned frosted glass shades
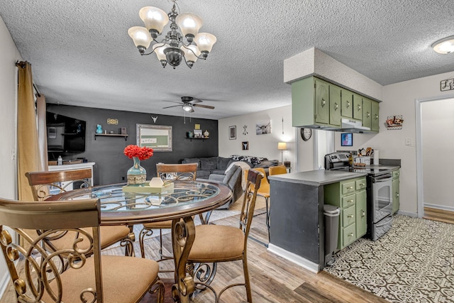
[[[211,33],[199,33],[199,28],[203,24],[201,18],[194,13],[177,13],[176,1],[172,0],[172,11],[167,14],[153,6],[140,9],[139,16],[145,23],[145,28],[133,26],[128,29],[128,34],[140,55],[155,53],[162,67],[168,63],[175,69],[184,58],[186,65],[192,68],[197,59],[206,60],[216,43],[216,37]],[[170,31],[164,39],[157,41],[157,36],[162,33],[162,29],[169,21]],[[182,33],[177,31],[178,28]],[[151,52],[145,53],[152,41],[154,44]]]

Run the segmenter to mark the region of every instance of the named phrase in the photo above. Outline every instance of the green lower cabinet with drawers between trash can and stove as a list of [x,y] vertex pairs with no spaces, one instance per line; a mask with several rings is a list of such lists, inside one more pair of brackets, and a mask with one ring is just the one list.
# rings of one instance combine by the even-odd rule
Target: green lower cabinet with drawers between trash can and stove
[[325,204],[338,206],[338,249],[343,249],[364,236],[367,231],[366,179],[359,177],[323,187]]

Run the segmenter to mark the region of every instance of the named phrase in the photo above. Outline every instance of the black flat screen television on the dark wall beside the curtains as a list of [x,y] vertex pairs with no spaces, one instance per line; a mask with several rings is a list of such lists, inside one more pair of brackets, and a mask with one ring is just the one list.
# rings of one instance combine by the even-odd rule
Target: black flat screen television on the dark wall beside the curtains
[[49,153],[83,153],[87,123],[60,114],[47,112]]

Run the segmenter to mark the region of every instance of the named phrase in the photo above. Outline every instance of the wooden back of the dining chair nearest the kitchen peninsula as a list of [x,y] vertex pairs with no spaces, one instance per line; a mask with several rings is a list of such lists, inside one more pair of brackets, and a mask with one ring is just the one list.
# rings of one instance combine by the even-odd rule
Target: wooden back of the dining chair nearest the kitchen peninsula
[[240,212],[240,229],[245,234],[244,251],[247,249],[249,229],[250,224],[253,221],[258,188],[260,187],[262,180],[265,178],[265,175],[258,170],[251,169],[248,171],[247,178],[246,191]]

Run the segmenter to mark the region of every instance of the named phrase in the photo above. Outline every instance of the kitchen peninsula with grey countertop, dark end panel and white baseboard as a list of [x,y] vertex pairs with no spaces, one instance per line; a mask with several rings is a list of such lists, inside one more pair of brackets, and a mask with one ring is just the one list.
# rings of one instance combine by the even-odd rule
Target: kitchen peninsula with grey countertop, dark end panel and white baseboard
[[346,180],[355,184],[366,175],[313,170],[270,176],[268,250],[313,272],[321,270],[325,260],[324,186]]

